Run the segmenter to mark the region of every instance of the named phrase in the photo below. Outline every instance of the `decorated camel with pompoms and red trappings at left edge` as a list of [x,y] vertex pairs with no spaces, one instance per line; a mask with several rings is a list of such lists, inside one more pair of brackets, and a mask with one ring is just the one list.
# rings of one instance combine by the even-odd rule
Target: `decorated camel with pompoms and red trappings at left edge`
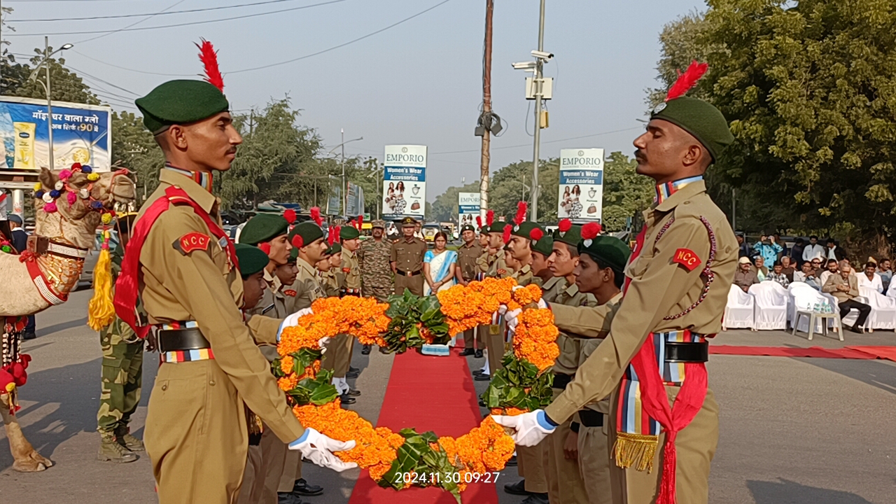
[[[89,166],[41,169],[35,187],[36,228],[20,255],[0,248],[0,321],[3,322],[0,368],[0,414],[13,453],[13,469],[43,471],[53,463],[31,447],[16,420],[16,395],[26,379],[30,357],[22,354],[18,334],[23,316],[62,304],[77,285],[84,258],[95,243],[101,222],[116,204],[134,201],[134,183],[125,169],[94,173]],[[108,216],[107,216],[108,215]]]

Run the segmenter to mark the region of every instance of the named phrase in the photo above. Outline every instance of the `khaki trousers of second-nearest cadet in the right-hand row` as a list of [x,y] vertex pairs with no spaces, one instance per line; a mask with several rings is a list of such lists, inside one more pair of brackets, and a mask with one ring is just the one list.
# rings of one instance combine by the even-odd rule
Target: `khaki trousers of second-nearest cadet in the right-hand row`
[[[555,399],[563,392],[557,388],[552,390]],[[573,419],[575,417],[576,415],[573,415]],[[563,451],[566,437],[573,432],[570,429],[571,423],[572,420],[564,421],[540,443],[545,445],[547,451],[548,498],[551,502],[563,502],[563,504],[588,504],[588,495],[585,491],[585,483],[582,481],[579,461],[566,458]]]

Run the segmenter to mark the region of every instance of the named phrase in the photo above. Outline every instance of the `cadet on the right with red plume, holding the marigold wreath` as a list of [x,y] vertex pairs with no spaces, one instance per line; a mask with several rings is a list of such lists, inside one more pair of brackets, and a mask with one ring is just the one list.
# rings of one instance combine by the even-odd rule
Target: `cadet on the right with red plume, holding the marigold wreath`
[[[682,78],[694,79],[693,70]],[[656,180],[657,199],[644,213],[625,268],[624,300],[605,341],[545,410],[495,417],[516,430],[518,444],[536,444],[583,405],[612,394],[614,502],[709,500],[719,406],[707,387],[706,338],[721,329],[738,247],[702,175],[731,142],[725,117],[705,101],[670,95],[653,110],[634,145],[637,171]],[[551,308],[556,326],[592,337],[605,332],[611,311]],[[672,456],[675,470],[664,470],[661,460]]]

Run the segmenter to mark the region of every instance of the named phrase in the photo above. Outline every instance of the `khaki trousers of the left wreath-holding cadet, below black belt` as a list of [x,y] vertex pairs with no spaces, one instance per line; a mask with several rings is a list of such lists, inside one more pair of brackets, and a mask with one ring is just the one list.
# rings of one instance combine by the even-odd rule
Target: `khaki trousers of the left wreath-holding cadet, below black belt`
[[232,504],[246,469],[246,412],[215,361],[164,363],[143,441],[159,504]]

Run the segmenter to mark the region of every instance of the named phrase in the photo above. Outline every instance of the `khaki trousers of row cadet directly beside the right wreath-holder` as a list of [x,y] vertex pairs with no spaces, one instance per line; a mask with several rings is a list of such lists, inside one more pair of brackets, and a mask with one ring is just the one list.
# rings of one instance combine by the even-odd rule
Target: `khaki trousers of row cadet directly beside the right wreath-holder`
[[[603,427],[579,427],[579,472],[589,504],[613,504],[610,488],[610,444],[607,415]],[[679,502],[684,502],[679,500]]]

